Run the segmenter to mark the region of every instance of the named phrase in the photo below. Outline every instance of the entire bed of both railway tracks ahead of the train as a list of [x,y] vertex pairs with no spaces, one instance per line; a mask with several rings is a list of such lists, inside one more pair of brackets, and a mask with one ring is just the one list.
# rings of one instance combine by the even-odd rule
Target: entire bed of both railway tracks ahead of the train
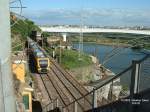
[[[47,74],[36,75],[43,84],[41,91],[47,92],[46,95],[49,97],[49,102],[46,103],[44,108],[49,111],[55,107],[59,107],[64,109],[65,112],[74,112],[74,108],[76,107],[75,103],[72,102],[76,101],[78,98],[84,97],[88,91],[51,57],[50,60],[50,71]],[[41,83],[39,84],[41,85]],[[45,94],[45,92],[43,92],[43,94]],[[70,105],[70,103],[72,104]],[[91,109],[92,95],[88,95],[85,98],[78,100],[76,104],[77,112]]]

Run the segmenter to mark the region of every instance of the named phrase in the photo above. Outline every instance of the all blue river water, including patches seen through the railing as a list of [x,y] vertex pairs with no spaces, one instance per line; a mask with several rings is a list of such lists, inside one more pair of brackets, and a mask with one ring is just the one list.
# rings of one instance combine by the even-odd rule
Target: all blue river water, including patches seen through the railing
[[[79,44],[74,43],[73,48],[78,49]],[[99,62],[102,63],[104,60],[106,63],[104,66],[111,70],[112,72],[118,74],[128,68],[132,64],[132,60],[139,60],[142,59],[145,54],[140,52],[139,50],[132,50],[130,48],[124,48],[124,47],[119,47],[117,52],[115,52],[115,56],[112,58],[104,58],[106,57],[106,54],[110,55],[110,52],[114,49],[115,47],[113,46],[107,46],[107,45],[99,45],[99,44],[91,44],[91,43],[84,43],[83,44],[83,51],[88,54],[96,54]],[[96,51],[96,53],[95,53]],[[118,54],[119,52],[119,54]],[[145,72],[146,73],[146,72]],[[143,90],[145,88],[150,88],[150,69],[147,69],[147,73],[145,74],[144,72],[140,76],[140,90]],[[128,86],[131,82],[131,70],[127,72],[126,74],[122,75],[120,80],[121,83],[125,86]]]

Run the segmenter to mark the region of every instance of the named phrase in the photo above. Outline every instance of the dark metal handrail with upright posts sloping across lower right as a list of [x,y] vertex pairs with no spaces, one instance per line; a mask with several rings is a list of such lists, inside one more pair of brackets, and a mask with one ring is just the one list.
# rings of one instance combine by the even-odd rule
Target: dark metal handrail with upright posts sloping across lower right
[[[97,86],[97,87],[94,87],[92,91],[90,91],[89,93],[85,94],[84,96],[82,96],[82,97],[76,99],[75,101],[71,102],[70,104],[64,106],[63,108],[68,108],[70,105],[76,104],[76,102],[78,102],[79,100],[81,100],[81,99],[85,98],[86,96],[92,94],[92,95],[93,95],[93,107],[92,107],[92,109],[94,110],[94,108],[96,108],[97,106],[100,106],[100,105],[97,104],[97,98],[96,98],[96,96],[95,96],[96,91],[98,91],[100,88],[102,88],[102,87],[104,87],[105,85],[108,85],[108,84],[110,84],[110,83],[111,83],[111,87],[113,87],[114,81],[115,81],[116,79],[118,79],[119,77],[121,77],[122,75],[124,75],[125,73],[129,72],[130,70],[132,70],[132,71],[131,71],[131,75],[130,75],[131,82],[130,82],[130,85],[129,85],[129,88],[128,88],[128,89],[130,89],[128,96],[131,95],[131,94],[137,93],[138,91],[135,92],[134,89],[135,89],[135,88],[138,88],[137,86],[139,86],[139,82],[137,82],[138,84],[135,85],[135,82],[134,82],[135,79],[133,79],[133,76],[134,76],[134,78],[135,78],[135,74],[136,74],[136,72],[137,72],[137,69],[136,69],[135,67],[136,67],[136,64],[141,64],[143,61],[145,61],[145,60],[146,60],[147,58],[149,58],[149,57],[150,57],[150,55],[149,55],[149,54],[146,54],[146,56],[144,56],[144,58],[142,58],[141,60],[133,61],[133,62],[132,62],[132,65],[130,65],[130,66],[129,66],[128,68],[126,68],[124,71],[122,71],[122,72],[119,73],[118,75],[116,75],[116,76],[110,78],[109,80],[107,80],[106,82],[102,83],[101,85],[99,85],[99,86]],[[139,69],[140,69],[140,68],[138,68],[138,70],[139,70]],[[136,86],[136,87],[135,87],[135,86]],[[112,103],[113,101],[115,101],[115,100],[113,100],[113,98],[112,98],[112,97],[113,97],[113,94],[112,94],[113,88],[111,88],[111,89],[112,89],[112,90],[111,90],[111,101],[109,101],[109,103]],[[117,101],[117,100],[116,100],[116,101]],[[77,112],[77,111],[76,111],[76,112]]]

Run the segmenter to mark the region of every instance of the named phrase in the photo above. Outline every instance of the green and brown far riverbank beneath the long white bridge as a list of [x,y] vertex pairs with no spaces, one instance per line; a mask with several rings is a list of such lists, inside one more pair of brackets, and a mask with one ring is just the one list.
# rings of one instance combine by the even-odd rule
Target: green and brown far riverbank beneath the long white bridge
[[[78,42],[79,35],[68,35],[70,41]],[[83,42],[90,42],[103,45],[117,46],[142,46],[150,49],[150,36],[139,34],[121,34],[121,33],[91,33],[83,35]],[[134,41],[132,41],[134,39]]]

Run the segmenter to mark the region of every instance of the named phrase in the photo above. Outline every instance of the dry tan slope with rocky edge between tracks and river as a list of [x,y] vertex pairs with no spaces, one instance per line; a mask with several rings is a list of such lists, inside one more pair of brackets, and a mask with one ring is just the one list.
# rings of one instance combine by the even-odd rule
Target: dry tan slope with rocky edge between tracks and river
[[104,67],[99,63],[99,60],[93,56],[89,55],[92,59],[92,64],[89,66],[80,66],[77,68],[70,69],[70,72],[74,74],[74,77],[83,85],[88,85],[95,81],[101,79],[107,79],[107,77],[114,76],[113,73],[108,68]]

